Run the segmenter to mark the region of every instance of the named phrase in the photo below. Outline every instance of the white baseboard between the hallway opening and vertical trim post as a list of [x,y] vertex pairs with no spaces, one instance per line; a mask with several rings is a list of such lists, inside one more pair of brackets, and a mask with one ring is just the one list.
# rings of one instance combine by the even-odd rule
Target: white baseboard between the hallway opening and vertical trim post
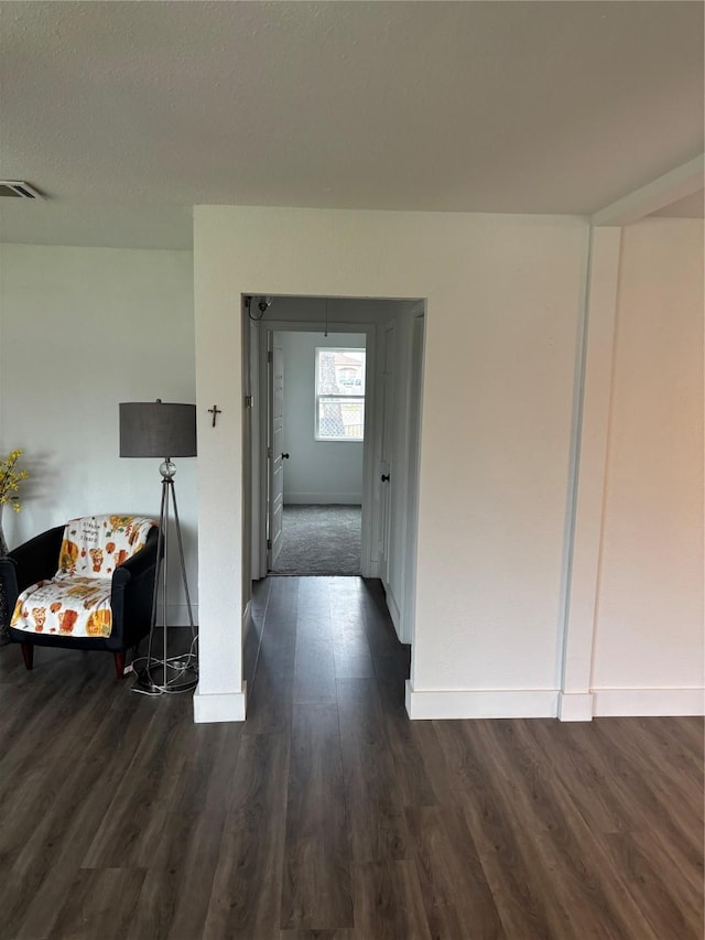
[[415,691],[406,680],[406,714],[429,718],[554,718],[555,689],[433,689]]

